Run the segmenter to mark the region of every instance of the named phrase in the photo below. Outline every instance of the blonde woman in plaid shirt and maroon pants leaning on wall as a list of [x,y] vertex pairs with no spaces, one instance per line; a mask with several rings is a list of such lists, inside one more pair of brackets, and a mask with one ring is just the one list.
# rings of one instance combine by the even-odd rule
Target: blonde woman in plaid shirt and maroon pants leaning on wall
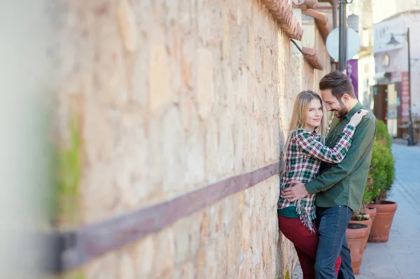
[[[356,126],[367,110],[360,110],[351,117],[334,148],[323,145],[323,105],[321,97],[312,91],[300,92],[295,99],[289,134],[286,141],[286,171],[281,177],[280,192],[290,180],[308,183],[318,173],[321,162],[339,163],[351,146]],[[318,235],[315,219],[315,194],[290,202],[279,198],[279,228],[293,242],[304,279],[315,278],[314,264]],[[335,262],[338,274],[341,258]]]

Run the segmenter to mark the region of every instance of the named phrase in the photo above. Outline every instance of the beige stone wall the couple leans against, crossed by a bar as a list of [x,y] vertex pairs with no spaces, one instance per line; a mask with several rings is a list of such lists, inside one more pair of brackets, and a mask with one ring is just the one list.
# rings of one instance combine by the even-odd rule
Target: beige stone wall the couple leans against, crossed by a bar
[[[293,99],[319,76],[259,0],[63,0],[55,11],[58,134],[69,145],[76,123],[81,155],[76,218],[62,229],[278,162]],[[278,196],[273,176],[80,273],[284,277],[296,257],[279,238]]]

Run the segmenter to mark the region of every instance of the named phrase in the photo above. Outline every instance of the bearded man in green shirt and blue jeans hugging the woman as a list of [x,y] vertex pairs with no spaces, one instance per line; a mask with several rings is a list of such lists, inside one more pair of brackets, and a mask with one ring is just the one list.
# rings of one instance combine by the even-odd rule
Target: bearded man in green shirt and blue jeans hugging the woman
[[[319,89],[327,110],[335,115],[325,143],[333,148],[351,116],[367,108],[356,99],[349,78],[339,71],[324,76]],[[334,263],[338,255],[342,257],[338,278],[354,278],[346,228],[352,210],[360,210],[375,135],[376,120],[370,112],[358,124],[351,148],[341,163],[323,163],[318,177],[310,183],[303,185],[292,180],[290,184],[294,186],[283,191],[283,198],[290,201],[316,193],[319,242],[315,273],[318,279],[336,278]]]

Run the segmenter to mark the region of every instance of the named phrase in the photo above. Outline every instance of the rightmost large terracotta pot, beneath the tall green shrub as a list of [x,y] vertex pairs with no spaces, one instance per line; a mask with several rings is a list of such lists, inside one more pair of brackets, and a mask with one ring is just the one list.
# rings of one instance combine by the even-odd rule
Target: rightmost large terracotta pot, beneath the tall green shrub
[[371,204],[371,206],[377,209],[377,215],[374,218],[368,241],[386,242],[389,239],[389,231],[391,231],[393,216],[398,205],[393,201],[381,201],[380,204]]

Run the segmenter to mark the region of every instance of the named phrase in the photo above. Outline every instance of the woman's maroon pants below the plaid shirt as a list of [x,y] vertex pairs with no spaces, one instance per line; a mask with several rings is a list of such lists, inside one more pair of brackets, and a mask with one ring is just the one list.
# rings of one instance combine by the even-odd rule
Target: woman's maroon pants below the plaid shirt
[[[314,224],[316,234],[312,234],[299,218],[288,218],[279,215],[279,229],[288,240],[295,245],[297,257],[304,279],[315,278],[315,258],[318,249],[318,230]],[[338,256],[335,262],[335,274],[338,274],[342,259]]]

